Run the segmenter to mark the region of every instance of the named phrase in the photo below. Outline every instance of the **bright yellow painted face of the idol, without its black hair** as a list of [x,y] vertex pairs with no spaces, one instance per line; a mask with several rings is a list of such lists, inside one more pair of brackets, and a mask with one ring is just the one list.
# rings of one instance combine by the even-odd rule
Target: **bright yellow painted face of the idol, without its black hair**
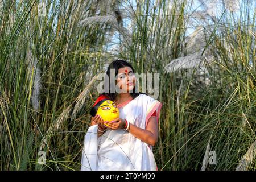
[[114,102],[110,100],[102,102],[96,114],[100,115],[104,121],[112,121],[113,119],[119,118],[119,110]]

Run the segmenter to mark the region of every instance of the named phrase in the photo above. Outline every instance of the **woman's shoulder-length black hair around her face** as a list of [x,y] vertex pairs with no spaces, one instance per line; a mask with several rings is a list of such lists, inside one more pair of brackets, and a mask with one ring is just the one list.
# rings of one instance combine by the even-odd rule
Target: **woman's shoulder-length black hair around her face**
[[[113,80],[110,80],[110,69],[114,69],[115,70],[115,76],[117,76],[118,74],[118,69],[120,68],[123,68],[123,67],[130,67],[133,72],[134,72],[134,69],[133,69],[133,66],[128,63],[127,61],[125,60],[121,60],[121,59],[118,59],[118,60],[115,60],[115,61],[112,61],[112,63],[109,64],[109,67],[106,71],[106,76],[108,76],[108,93],[102,93],[103,95],[107,96],[110,98],[110,100],[114,101],[115,98],[117,97],[117,93],[114,92],[114,93],[111,93],[110,92],[110,84],[113,83]],[[115,84],[114,84],[115,85]],[[137,91],[138,87],[137,87],[138,84],[135,84],[134,88],[133,88],[133,93],[130,93],[131,94],[131,97],[133,98],[136,98],[137,96],[139,96],[140,94],[146,94],[146,93],[141,93],[141,92],[137,92],[135,93],[135,91]],[[115,90],[114,90],[115,91]],[[101,94],[100,94],[101,95]]]

